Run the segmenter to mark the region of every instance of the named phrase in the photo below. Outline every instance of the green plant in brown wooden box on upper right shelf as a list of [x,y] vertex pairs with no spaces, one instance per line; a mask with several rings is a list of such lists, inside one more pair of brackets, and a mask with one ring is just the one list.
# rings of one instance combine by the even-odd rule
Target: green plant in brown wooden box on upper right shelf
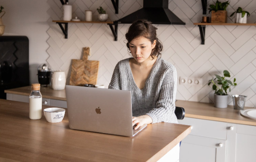
[[215,5],[210,5],[209,13],[212,12],[212,23],[227,23],[227,6],[229,1],[219,2],[216,1]]

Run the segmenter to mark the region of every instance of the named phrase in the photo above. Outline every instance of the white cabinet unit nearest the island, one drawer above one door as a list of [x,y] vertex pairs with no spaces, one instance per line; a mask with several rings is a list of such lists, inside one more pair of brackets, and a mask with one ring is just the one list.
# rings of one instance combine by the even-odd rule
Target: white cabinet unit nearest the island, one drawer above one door
[[193,127],[181,142],[180,162],[225,162],[227,123],[193,118],[179,123]]

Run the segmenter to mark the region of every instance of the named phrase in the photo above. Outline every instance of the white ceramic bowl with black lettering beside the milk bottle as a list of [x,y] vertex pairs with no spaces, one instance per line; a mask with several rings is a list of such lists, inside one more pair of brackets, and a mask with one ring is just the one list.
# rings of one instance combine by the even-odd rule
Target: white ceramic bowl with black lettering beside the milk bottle
[[65,109],[58,107],[51,107],[44,109],[44,116],[47,122],[58,123],[61,122],[65,115]]

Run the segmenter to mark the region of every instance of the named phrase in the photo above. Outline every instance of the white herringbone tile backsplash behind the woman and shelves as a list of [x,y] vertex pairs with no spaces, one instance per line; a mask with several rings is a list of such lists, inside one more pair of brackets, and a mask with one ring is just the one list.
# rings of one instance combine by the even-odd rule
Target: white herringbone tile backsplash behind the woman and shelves
[[[213,1],[208,0],[208,4]],[[47,62],[54,70],[65,71],[69,83],[71,59],[81,59],[82,48],[89,46],[92,53],[89,60],[100,61],[98,84],[108,87],[116,63],[130,57],[125,46],[129,24],[119,25],[118,41],[113,41],[111,29],[105,24],[70,23],[69,38],[64,39],[59,26],[52,23],[62,18],[61,3],[59,0],[47,3],[51,6],[47,12],[51,17],[47,31]],[[69,0],[69,3],[73,5],[73,17],[78,16],[81,20],[84,20],[85,10],[92,10],[93,20],[97,20],[99,6],[106,10],[110,20],[118,20],[143,7],[143,0],[119,0],[119,14],[115,14],[111,0]],[[250,12],[247,22],[256,23],[256,0],[231,0],[228,15],[239,6]],[[178,84],[177,99],[212,102],[213,91],[207,81],[227,69],[231,79],[235,77],[238,83],[230,95],[247,95],[246,106],[256,107],[256,26],[207,26],[205,45],[201,45],[199,29],[193,25],[201,22],[203,16],[201,0],[169,0],[169,9],[186,25],[155,25],[164,45],[162,57],[175,65],[178,78],[203,78],[202,87]],[[229,23],[233,21],[234,17],[228,17]],[[233,104],[231,97],[229,104]]]

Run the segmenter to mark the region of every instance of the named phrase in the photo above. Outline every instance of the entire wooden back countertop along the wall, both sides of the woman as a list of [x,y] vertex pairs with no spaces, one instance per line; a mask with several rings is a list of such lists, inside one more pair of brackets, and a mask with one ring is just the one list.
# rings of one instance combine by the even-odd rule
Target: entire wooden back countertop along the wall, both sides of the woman
[[[5,93],[30,95],[31,87],[27,86],[5,90]],[[51,98],[64,101],[67,100],[65,90],[52,90],[49,87],[41,87],[41,94],[43,98]],[[234,110],[233,106],[228,106],[226,109],[221,109],[214,107],[213,104],[182,100],[176,101],[175,104],[176,106],[183,107],[185,109],[185,117],[256,126],[256,120],[247,119],[241,116],[239,110]],[[244,109],[251,108],[253,107],[244,107]]]

